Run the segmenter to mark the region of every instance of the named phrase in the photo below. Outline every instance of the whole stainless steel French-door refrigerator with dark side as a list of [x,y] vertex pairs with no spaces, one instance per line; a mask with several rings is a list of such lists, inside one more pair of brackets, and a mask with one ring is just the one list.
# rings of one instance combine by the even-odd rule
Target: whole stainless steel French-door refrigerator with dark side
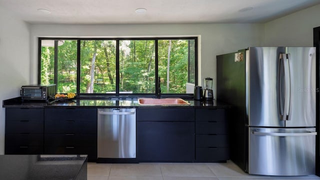
[[217,100],[232,104],[230,159],[250,174],[315,172],[315,47],[216,56]]

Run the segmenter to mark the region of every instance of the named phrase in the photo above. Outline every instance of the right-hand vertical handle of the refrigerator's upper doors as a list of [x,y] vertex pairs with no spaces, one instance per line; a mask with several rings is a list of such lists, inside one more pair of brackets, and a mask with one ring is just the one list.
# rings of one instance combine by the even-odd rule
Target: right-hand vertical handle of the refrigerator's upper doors
[[290,104],[290,68],[287,54],[280,54],[280,58],[283,59],[284,67],[284,108],[281,120],[288,120],[289,104]]

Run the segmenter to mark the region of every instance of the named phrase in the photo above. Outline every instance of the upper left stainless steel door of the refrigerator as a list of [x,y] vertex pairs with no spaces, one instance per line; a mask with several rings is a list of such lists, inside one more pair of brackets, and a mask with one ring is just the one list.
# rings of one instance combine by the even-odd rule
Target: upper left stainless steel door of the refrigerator
[[279,55],[284,47],[249,47],[246,60],[246,101],[249,126],[284,127],[280,120],[281,104],[279,83]]

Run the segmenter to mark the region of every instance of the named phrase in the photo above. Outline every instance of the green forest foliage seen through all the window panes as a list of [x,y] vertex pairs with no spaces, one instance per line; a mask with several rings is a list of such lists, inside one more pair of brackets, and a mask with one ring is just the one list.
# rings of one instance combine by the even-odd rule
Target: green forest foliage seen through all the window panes
[[[91,81],[91,60],[95,53],[93,93],[114,93],[116,76],[115,40],[80,40],[80,93]],[[120,93],[155,93],[155,40],[119,40]],[[194,63],[194,40],[188,54],[188,40],[158,40],[158,75],[162,93],[185,93],[188,81],[188,56]],[[169,67],[167,54],[170,50]],[[193,50],[193,51],[192,51]],[[193,56],[192,56],[193,54]],[[41,83],[53,83],[54,48],[41,47]],[[77,40],[64,40],[58,46],[58,92],[76,91]],[[169,68],[169,79],[167,79]],[[194,65],[193,65],[194,68]],[[193,69],[194,70],[194,69]],[[190,73],[194,80],[194,71]],[[169,82],[169,91],[166,84]]]

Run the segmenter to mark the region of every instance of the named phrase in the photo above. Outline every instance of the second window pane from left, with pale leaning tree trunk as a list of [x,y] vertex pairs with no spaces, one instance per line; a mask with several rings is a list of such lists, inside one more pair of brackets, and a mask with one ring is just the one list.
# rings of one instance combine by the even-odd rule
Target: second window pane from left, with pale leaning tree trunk
[[80,40],[80,93],[115,93],[115,40]]

